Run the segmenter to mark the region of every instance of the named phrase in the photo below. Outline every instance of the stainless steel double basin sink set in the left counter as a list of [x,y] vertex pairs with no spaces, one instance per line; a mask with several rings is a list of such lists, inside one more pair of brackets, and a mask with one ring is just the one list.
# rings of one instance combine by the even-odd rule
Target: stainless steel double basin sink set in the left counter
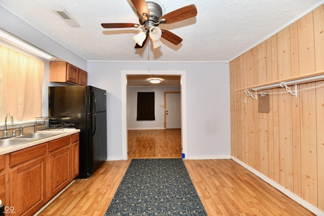
[[21,136],[16,136],[13,138],[2,138],[0,140],[0,148],[7,148],[11,146],[21,145],[29,142],[33,142],[36,140],[45,139],[48,137],[53,137],[59,134],[64,134],[64,132],[61,133],[31,133]]

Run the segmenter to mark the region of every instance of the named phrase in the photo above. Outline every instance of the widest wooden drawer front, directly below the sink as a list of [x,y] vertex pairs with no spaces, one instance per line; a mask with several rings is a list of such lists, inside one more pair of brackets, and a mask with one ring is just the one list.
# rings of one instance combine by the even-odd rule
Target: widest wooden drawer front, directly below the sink
[[46,154],[46,144],[39,144],[10,153],[10,167]]

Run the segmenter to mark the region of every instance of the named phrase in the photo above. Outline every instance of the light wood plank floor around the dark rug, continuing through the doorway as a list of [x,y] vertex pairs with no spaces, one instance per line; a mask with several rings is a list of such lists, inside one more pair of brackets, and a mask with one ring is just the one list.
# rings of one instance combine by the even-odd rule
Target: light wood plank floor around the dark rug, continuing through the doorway
[[[132,158],[181,156],[180,129],[129,131],[129,159],[106,161],[39,215],[104,215]],[[314,215],[230,159],[184,160],[208,215]]]

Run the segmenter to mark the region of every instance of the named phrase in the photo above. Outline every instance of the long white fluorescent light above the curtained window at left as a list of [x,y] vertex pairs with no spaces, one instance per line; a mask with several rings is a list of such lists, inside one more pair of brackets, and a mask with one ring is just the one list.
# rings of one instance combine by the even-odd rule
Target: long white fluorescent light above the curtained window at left
[[48,60],[55,60],[56,57],[51,56],[50,54],[44,52],[43,50],[39,50],[38,48],[28,44],[26,41],[23,41],[19,39],[18,37],[15,37],[14,35],[0,29],[0,38],[10,42],[10,44],[13,44],[23,50],[26,50],[34,55],[40,56],[42,58],[48,59]]

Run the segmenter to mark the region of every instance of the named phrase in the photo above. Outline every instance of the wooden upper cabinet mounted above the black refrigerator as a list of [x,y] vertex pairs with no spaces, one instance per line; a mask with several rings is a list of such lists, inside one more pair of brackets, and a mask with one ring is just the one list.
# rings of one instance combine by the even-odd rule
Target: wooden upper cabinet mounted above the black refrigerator
[[67,62],[50,62],[50,82],[87,85],[88,73]]

